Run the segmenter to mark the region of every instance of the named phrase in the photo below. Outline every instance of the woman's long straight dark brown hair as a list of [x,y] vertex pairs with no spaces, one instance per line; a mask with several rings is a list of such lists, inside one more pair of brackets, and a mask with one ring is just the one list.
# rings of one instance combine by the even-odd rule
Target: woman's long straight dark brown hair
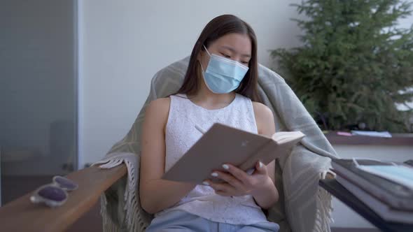
[[194,95],[199,88],[199,82],[202,80],[202,70],[200,63],[197,61],[198,54],[205,47],[209,47],[211,43],[226,34],[237,33],[245,34],[251,40],[251,59],[249,61],[249,69],[239,87],[235,89],[237,94],[244,95],[252,101],[259,101],[260,97],[257,93],[258,84],[258,61],[257,61],[257,38],[253,29],[243,20],[235,15],[221,15],[215,17],[205,26],[200,37],[195,43],[193,52],[190,55],[188,70],[186,71],[185,79],[181,89],[176,94]]

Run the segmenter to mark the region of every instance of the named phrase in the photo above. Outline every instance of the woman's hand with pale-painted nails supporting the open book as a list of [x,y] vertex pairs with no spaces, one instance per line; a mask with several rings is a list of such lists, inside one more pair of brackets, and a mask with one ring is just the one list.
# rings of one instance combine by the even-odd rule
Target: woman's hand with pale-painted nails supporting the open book
[[212,182],[205,180],[203,184],[212,187],[216,194],[221,196],[245,196],[259,194],[260,191],[274,185],[272,179],[269,177],[267,167],[258,162],[255,165],[255,171],[252,175],[242,171],[241,169],[232,166],[231,164],[224,164],[223,168],[228,173],[221,171],[214,171],[211,176],[223,180],[223,183]]

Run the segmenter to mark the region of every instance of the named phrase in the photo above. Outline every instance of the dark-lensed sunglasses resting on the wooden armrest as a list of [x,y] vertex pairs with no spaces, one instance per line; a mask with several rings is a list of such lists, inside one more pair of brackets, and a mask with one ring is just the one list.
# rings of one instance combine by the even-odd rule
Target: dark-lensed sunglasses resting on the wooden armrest
[[53,177],[53,182],[38,187],[30,196],[32,203],[45,203],[49,207],[63,205],[69,197],[67,192],[78,188],[78,184],[62,176]]

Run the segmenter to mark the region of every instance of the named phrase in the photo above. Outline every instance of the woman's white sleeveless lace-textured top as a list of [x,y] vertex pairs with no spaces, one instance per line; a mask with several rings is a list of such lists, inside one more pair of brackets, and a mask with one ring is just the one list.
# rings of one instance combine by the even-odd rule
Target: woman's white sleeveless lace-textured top
[[[169,170],[201,138],[202,133],[195,128],[195,125],[207,131],[215,122],[220,122],[244,131],[258,133],[252,102],[240,94],[235,96],[230,105],[217,110],[207,110],[197,106],[183,94],[170,98],[165,136],[165,171]],[[200,184],[179,203],[158,212],[155,217],[171,210],[183,210],[213,222],[228,224],[267,222],[252,196],[219,196],[211,187]]]

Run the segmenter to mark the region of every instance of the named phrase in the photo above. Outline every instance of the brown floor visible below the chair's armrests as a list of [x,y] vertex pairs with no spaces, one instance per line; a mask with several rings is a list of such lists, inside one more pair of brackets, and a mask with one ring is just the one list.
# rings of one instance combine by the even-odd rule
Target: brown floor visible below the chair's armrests
[[[1,179],[1,199],[6,204],[16,198],[27,194],[29,191],[36,189],[42,184],[48,184],[52,181],[52,176],[37,177],[2,177]],[[70,196],[69,196],[70,197]],[[100,203],[94,205],[89,212],[73,224],[67,231],[69,232],[101,232],[102,217],[99,213]],[[0,226],[1,229],[1,226]],[[332,228],[332,232],[379,232],[377,229],[342,229]]]

